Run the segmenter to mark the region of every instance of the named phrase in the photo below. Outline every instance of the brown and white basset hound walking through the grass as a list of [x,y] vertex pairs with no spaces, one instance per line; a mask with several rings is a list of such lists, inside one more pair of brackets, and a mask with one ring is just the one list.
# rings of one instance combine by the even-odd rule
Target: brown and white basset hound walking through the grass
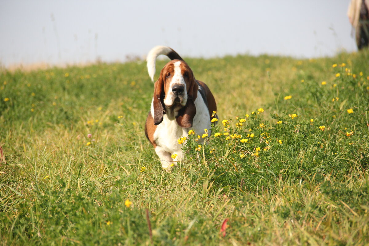
[[[208,129],[210,135],[211,115],[217,110],[217,105],[207,85],[196,80],[187,63],[167,46],[156,46],[148,53],[147,69],[152,82],[159,55],[166,55],[171,61],[163,67],[154,84],[145,134],[163,169],[168,171],[184,157],[182,145],[177,141],[181,136],[187,136],[191,129],[200,136],[204,129]],[[203,138],[199,140],[201,142]],[[173,160],[171,156],[174,154],[177,157]]]

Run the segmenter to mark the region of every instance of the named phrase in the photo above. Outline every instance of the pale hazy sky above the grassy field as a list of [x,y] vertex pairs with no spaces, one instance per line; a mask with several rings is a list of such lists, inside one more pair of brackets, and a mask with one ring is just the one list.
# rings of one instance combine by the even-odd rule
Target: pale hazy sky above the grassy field
[[155,45],[181,56],[297,58],[355,51],[346,0],[0,0],[0,64],[125,61]]

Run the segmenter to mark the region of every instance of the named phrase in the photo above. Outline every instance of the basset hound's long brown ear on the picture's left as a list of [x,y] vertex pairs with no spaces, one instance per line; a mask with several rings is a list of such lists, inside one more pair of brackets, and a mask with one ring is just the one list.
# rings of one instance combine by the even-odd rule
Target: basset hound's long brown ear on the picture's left
[[163,121],[164,114],[164,82],[163,75],[160,73],[159,79],[154,84],[154,124],[159,125]]

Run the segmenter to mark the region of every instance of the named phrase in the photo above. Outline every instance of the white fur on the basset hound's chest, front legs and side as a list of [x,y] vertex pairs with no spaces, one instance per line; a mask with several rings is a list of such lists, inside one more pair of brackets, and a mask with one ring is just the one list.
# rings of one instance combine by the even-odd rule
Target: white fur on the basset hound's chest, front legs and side
[[[170,120],[167,115],[163,116],[163,121],[157,126],[154,133],[155,143],[158,145],[155,148],[156,154],[159,156],[160,162],[164,169],[170,168],[173,163],[173,159],[170,155],[177,154],[177,159],[181,160],[184,157],[182,151],[182,144],[178,143],[178,139],[181,136],[188,136],[188,131],[194,129],[197,135],[202,136],[205,132],[204,129],[208,129],[208,134],[211,134],[210,115],[208,108],[200,94],[197,91],[197,98],[194,101],[196,106],[196,115],[193,118],[192,128],[182,128],[177,124],[177,121]],[[154,116],[153,107],[151,107],[151,114]],[[199,144],[203,143],[204,138],[200,138]],[[170,153],[170,155],[168,155]],[[176,164],[176,163],[175,163]]]

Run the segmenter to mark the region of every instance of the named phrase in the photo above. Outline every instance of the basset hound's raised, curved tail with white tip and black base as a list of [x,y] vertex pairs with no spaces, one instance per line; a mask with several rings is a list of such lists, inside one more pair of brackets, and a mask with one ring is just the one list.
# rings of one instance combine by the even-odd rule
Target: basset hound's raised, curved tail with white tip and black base
[[170,60],[174,59],[183,60],[182,57],[180,57],[177,52],[175,52],[172,48],[169,48],[168,46],[159,45],[152,48],[151,51],[149,51],[149,53],[147,54],[146,58],[147,71],[149,72],[149,76],[152,82],[154,82],[156,58],[159,55],[166,55],[169,57]]

